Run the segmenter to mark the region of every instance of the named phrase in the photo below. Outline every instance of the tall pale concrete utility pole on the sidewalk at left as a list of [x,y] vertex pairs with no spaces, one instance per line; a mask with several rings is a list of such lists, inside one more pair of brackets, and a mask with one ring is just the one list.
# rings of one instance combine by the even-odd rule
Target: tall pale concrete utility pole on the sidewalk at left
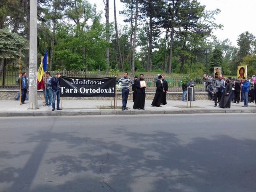
[[30,0],[29,108],[37,109],[37,0]]

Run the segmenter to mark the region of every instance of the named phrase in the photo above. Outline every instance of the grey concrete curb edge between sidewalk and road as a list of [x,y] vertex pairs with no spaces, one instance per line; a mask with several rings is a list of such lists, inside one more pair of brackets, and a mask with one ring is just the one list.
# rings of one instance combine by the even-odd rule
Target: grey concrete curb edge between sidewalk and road
[[256,113],[256,109],[186,109],[186,110],[100,110],[100,111],[44,111],[0,112],[0,117],[31,116],[98,116],[98,115],[156,115],[156,114],[216,114]]

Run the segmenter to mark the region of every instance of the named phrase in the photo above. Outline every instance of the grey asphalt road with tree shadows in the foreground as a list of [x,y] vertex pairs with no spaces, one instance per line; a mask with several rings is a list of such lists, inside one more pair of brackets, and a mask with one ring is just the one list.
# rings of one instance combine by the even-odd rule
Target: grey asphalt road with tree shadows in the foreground
[[1,192],[255,192],[255,115],[0,118]]

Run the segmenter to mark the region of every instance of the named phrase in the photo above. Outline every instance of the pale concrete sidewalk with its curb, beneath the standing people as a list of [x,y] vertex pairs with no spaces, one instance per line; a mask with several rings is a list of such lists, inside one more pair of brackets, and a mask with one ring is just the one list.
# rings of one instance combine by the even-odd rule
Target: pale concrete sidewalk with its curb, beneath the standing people
[[[27,101],[28,103],[29,101]],[[187,108],[187,102],[168,100],[167,105],[161,108],[152,107],[152,100],[146,100],[145,110],[132,109],[133,102],[128,100],[129,110],[122,111],[122,101],[117,100],[119,109],[110,109],[111,100],[62,100],[63,111],[52,111],[52,107],[44,106],[42,100],[38,100],[37,110],[28,109],[28,104],[20,105],[16,100],[0,100],[0,117],[8,116],[75,116],[75,115],[136,115],[136,114],[212,114],[212,113],[255,113],[255,103],[249,103],[248,108],[231,103],[230,109],[214,107],[214,102],[198,100],[193,102],[193,108]],[[112,103],[113,105],[113,103]],[[189,102],[190,107],[190,102]],[[61,108],[61,103],[60,103]],[[108,109],[102,109],[108,108]]]

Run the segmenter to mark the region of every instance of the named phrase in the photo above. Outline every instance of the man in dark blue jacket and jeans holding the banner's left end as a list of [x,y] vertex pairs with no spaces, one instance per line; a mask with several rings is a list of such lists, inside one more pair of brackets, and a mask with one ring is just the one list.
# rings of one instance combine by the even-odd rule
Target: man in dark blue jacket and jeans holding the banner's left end
[[57,110],[60,108],[60,73],[57,73],[55,77],[52,77],[52,111],[55,110],[55,100],[57,95]]

